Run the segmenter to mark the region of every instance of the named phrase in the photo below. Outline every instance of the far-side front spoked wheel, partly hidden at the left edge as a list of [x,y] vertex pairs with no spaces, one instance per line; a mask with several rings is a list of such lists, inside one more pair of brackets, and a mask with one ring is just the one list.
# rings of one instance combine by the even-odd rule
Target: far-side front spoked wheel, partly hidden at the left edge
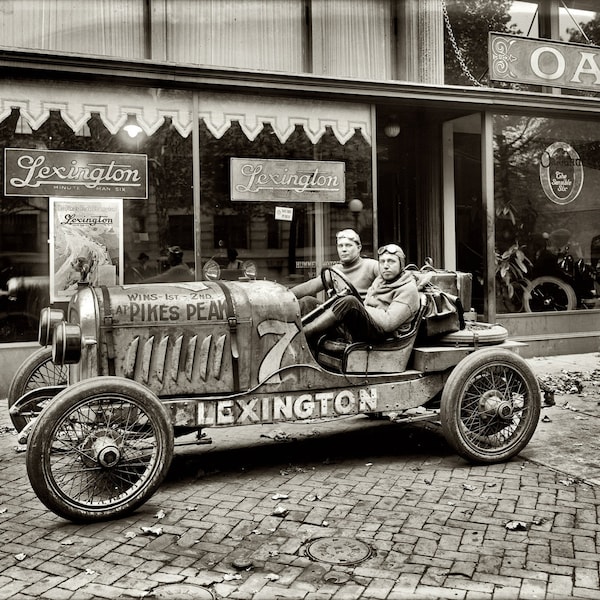
[[[23,362],[17,369],[10,387],[8,388],[8,408],[25,395],[26,392],[41,387],[67,385],[68,368],[66,365],[56,365],[52,362],[52,348],[39,348]],[[54,398],[56,394],[51,394],[48,400]],[[10,420],[17,431],[22,431],[25,425],[35,418],[45,402],[43,399],[37,402],[26,413],[19,415],[10,415]]]

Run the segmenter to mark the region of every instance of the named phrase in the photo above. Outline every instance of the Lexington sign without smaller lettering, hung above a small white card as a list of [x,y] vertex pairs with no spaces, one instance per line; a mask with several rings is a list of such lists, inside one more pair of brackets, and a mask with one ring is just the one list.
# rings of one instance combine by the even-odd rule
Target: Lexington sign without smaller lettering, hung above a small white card
[[231,199],[344,202],[345,163],[321,160],[232,158]]

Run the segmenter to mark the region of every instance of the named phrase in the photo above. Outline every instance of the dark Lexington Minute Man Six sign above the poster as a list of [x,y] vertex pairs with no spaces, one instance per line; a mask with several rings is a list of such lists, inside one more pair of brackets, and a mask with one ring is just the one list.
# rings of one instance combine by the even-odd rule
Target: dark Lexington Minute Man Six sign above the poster
[[143,154],[6,148],[6,196],[147,198]]

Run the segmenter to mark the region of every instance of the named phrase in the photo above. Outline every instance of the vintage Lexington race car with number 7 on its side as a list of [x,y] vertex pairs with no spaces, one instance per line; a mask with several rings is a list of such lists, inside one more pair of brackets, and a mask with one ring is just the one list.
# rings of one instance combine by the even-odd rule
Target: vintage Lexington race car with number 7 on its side
[[[335,271],[322,276],[326,305],[356,293]],[[314,315],[301,318],[295,296],[277,283],[82,283],[66,318],[53,309],[41,315],[40,342],[51,346],[60,375],[28,389],[35,361],[49,366],[50,348],[42,348],[9,398],[31,485],[64,518],[114,518],[155,492],[177,436],[356,414],[401,422],[419,412],[440,421],[467,460],[515,456],[541,408],[516,344],[492,326],[486,337],[478,324],[432,345],[418,337],[424,311],[401,338],[322,338],[313,347],[303,322]]]

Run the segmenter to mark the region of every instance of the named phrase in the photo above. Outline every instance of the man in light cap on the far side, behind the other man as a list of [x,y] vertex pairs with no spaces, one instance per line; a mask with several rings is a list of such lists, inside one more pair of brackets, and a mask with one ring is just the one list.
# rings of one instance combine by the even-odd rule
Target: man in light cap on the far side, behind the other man
[[[335,237],[340,264],[332,268],[344,275],[364,299],[367,289],[379,275],[379,264],[373,258],[360,255],[362,244],[353,229],[338,231]],[[305,315],[319,306],[315,295],[323,291],[323,282],[320,276],[315,277],[294,286],[290,291],[300,300],[300,312]]]

